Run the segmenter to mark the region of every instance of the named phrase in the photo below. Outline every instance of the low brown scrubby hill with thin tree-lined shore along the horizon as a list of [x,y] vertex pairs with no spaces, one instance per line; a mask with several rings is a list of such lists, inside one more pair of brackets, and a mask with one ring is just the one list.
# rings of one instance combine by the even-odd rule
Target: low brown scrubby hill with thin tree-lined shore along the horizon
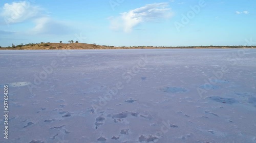
[[131,46],[131,47],[115,47],[106,45],[96,45],[87,43],[39,43],[17,45],[13,47],[2,47],[0,49],[12,50],[39,50],[39,49],[157,49],[157,48],[256,48],[256,46],[186,46],[186,47],[154,47],[154,46]]

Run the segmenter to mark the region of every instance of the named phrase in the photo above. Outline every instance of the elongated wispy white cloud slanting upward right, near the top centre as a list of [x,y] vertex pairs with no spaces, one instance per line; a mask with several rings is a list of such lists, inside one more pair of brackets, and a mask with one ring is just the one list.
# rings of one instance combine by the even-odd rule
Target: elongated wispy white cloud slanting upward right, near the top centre
[[110,28],[112,30],[122,28],[124,32],[131,32],[133,27],[139,23],[152,22],[170,16],[172,16],[172,13],[168,8],[168,3],[154,3],[121,13],[119,17],[110,17]]

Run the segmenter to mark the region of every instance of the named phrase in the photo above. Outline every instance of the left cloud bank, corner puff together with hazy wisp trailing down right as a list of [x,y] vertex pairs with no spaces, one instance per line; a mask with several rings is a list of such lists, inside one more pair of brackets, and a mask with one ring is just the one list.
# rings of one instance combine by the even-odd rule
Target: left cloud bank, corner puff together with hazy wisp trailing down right
[[5,4],[0,12],[0,18],[3,17],[6,24],[20,23],[26,20],[35,22],[35,26],[28,30],[27,34],[59,35],[71,33],[71,26],[68,26],[67,23],[54,20],[44,13],[46,11],[35,6],[34,2],[20,1]]

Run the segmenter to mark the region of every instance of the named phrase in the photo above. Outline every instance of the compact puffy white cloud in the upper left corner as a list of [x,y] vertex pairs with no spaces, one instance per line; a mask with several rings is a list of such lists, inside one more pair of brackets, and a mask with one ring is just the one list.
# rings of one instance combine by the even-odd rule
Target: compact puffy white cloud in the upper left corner
[[5,19],[7,24],[23,22],[36,17],[42,10],[40,7],[33,6],[30,2],[26,1],[5,4],[2,9],[0,16]]

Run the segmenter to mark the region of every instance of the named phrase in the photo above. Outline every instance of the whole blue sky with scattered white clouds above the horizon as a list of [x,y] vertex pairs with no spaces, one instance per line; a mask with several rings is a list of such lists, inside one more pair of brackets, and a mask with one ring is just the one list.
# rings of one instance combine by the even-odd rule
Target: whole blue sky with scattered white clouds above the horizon
[[0,1],[0,46],[256,45],[255,0]]

